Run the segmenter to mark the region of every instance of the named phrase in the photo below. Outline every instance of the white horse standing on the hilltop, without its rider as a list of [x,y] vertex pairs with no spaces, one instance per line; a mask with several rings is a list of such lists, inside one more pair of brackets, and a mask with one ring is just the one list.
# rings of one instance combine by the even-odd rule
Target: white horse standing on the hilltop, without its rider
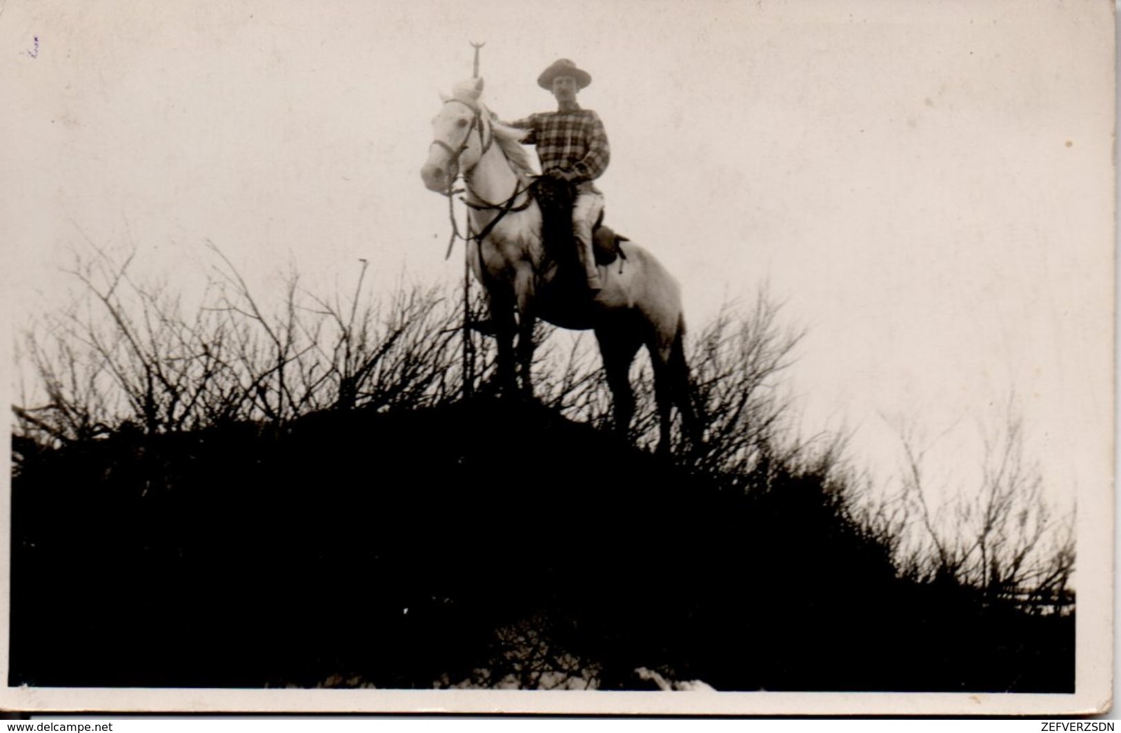
[[629,371],[638,350],[646,345],[660,419],[658,452],[669,449],[675,405],[686,432],[696,438],[677,281],[652,254],[630,241],[619,242],[626,256],[621,267],[600,267],[603,289],[594,298],[581,289],[578,278],[575,284],[557,278],[557,263],[543,245],[541,212],[530,189],[532,161],[520,142],[525,132],[500,123],[480,100],[482,90],[483,81],[478,78],[456,84],[452,96],[442,95],[444,105],[433,120],[433,142],[420,177],[430,191],[450,196],[463,175],[471,231],[476,232],[467,241],[469,261],[487,290],[498,338],[500,384],[517,389],[517,358],[521,389],[532,395],[535,318],[563,328],[592,328],[613,397],[615,428],[626,434],[630,427],[634,396]]

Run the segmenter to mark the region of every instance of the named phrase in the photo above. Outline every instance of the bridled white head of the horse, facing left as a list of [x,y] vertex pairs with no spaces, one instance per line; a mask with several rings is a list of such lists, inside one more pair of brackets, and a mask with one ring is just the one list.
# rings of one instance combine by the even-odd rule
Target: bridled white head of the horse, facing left
[[474,168],[493,141],[490,115],[479,102],[483,80],[455,85],[452,96],[441,95],[444,105],[432,121],[433,140],[420,178],[429,191],[446,194],[461,171]]

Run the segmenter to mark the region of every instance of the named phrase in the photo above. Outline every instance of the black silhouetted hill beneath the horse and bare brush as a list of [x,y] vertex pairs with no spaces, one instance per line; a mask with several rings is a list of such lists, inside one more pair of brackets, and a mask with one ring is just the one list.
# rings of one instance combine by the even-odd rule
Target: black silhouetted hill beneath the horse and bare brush
[[1073,692],[1073,613],[900,577],[778,458],[483,398],[16,451],[11,685]]

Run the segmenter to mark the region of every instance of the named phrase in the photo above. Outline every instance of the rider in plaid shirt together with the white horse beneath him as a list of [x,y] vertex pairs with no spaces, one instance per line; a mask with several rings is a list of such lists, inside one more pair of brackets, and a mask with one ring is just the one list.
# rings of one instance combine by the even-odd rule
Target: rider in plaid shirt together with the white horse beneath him
[[[520,387],[525,397],[532,396],[534,328],[538,318],[563,328],[591,328],[603,356],[615,428],[623,433],[630,429],[636,409],[630,366],[645,346],[650,354],[658,406],[658,451],[668,451],[673,443],[675,407],[685,433],[700,444],[703,429],[693,406],[685,359],[680,286],[652,253],[633,242],[618,250],[628,262],[626,270],[605,268],[601,275],[590,251],[594,244],[592,224],[603,207],[603,195],[593,182],[606,168],[609,158],[603,123],[595,112],[576,105],[576,92],[591,81],[569,61],[549,66],[538,83],[554,92],[558,109],[530,115],[517,123],[521,129],[501,124],[481,102],[481,77],[456,84],[454,95],[442,95],[444,103],[433,118],[433,140],[420,178],[429,191],[446,196],[451,206],[453,186],[463,176],[472,232],[463,238],[467,266],[487,288],[499,389],[513,395]],[[568,277],[566,267],[577,258],[548,252],[546,239],[536,229],[546,216],[540,189],[530,194],[526,188],[534,170],[529,151],[521,145],[526,132],[537,146],[546,173],[537,185],[563,184],[555,186],[560,194],[568,193],[564,191],[568,185],[576,188],[576,211],[562,211],[556,229],[562,245],[568,247],[575,230],[581,244],[578,260],[584,263],[584,272],[575,277],[590,280],[592,287],[606,286],[608,297],[595,297],[593,301],[585,291],[587,301],[581,304],[578,298],[565,297],[566,286],[553,287]],[[572,198],[568,196],[569,202]],[[610,235],[615,244],[624,239],[608,232],[606,226],[595,231],[595,236],[604,240]],[[600,282],[601,277],[606,281]]]

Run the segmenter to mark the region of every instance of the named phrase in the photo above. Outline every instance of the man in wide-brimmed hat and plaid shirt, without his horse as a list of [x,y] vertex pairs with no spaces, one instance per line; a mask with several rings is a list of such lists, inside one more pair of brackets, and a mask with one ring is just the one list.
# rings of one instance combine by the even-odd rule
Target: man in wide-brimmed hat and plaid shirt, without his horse
[[557,111],[530,114],[511,124],[528,131],[524,142],[536,146],[543,175],[575,186],[573,235],[594,295],[603,287],[592,251],[592,228],[603,212],[603,193],[593,182],[606,169],[611,148],[600,117],[576,103],[577,92],[591,83],[591,74],[567,58],[557,59],[537,77],[539,86],[553,92]]

